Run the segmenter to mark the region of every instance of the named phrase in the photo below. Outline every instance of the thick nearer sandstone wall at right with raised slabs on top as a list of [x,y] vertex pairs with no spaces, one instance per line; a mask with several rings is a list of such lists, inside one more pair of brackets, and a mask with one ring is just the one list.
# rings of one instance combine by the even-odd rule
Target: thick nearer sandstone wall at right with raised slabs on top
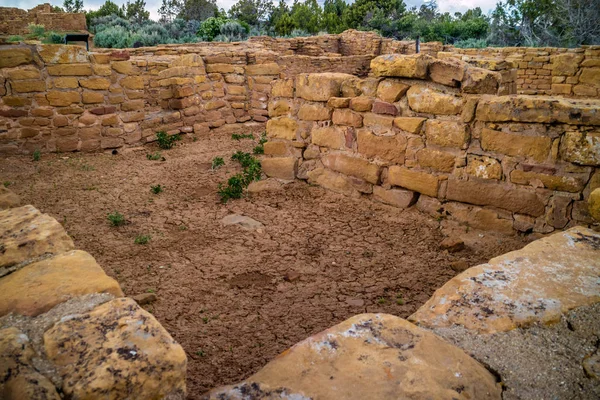
[[506,233],[593,223],[599,100],[498,96],[500,73],[427,55],[371,67],[273,83],[267,175]]

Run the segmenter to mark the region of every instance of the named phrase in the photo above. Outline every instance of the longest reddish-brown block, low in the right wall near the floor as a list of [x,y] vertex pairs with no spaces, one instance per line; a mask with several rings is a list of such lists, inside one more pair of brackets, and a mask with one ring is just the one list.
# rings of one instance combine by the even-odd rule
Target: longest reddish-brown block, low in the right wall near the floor
[[450,177],[446,197],[448,200],[494,206],[534,217],[544,214],[545,210],[544,202],[534,191],[489,181],[464,181]]

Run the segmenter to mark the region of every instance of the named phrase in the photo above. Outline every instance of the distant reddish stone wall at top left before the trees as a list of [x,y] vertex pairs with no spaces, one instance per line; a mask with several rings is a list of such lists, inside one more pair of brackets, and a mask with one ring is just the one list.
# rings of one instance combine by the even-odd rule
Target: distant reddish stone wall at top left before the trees
[[25,35],[29,24],[44,25],[46,31],[77,32],[86,31],[87,24],[83,13],[55,13],[48,3],[40,4],[29,11],[20,8],[0,7],[0,34]]

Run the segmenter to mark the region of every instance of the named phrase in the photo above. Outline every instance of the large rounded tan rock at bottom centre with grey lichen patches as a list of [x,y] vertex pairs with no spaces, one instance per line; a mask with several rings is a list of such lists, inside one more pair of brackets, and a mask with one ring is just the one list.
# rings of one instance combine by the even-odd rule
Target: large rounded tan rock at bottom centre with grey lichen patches
[[462,350],[387,314],[361,314],[296,344],[259,372],[204,399],[500,399]]

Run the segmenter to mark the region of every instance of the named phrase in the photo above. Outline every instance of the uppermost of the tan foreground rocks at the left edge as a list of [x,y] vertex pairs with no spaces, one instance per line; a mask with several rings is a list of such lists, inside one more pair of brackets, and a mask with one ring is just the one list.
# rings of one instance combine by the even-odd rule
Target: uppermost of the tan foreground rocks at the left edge
[[0,211],[0,276],[5,268],[44,254],[74,248],[64,228],[33,206]]

